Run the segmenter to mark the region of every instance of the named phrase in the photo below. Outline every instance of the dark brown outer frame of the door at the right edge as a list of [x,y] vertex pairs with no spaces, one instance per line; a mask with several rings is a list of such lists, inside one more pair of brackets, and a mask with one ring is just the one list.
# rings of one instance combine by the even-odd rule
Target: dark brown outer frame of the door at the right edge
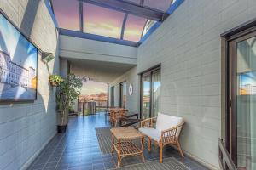
[[[236,59],[233,55],[236,55],[236,43],[249,37],[256,36],[256,19],[249,20],[248,22],[237,26],[230,31],[226,31],[220,36],[222,39],[222,57],[224,64],[222,64],[222,85],[221,96],[223,105],[222,116],[224,116],[224,134],[225,146],[232,161],[237,166],[237,120],[236,120]],[[232,113],[231,113],[232,111]]]

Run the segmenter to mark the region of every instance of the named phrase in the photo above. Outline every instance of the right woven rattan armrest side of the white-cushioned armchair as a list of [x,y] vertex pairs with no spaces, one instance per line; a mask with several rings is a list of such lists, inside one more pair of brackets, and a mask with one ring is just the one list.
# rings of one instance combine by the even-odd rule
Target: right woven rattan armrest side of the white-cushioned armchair
[[169,129],[166,129],[166,130],[162,131],[161,132],[161,139],[160,139],[161,142],[169,143],[169,142],[176,141],[178,139],[177,129],[182,128],[184,123],[185,122],[182,122],[182,123],[178,124],[176,127],[172,127],[172,128],[169,128]]

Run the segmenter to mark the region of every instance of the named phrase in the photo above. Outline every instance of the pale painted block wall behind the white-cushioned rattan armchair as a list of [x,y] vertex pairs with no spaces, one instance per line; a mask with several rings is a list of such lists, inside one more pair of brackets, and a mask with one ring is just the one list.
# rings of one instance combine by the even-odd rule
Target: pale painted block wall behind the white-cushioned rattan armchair
[[220,34],[255,17],[255,0],[185,0],[138,48],[133,77],[161,63],[161,111],[184,118],[183,150],[210,167],[221,136]]

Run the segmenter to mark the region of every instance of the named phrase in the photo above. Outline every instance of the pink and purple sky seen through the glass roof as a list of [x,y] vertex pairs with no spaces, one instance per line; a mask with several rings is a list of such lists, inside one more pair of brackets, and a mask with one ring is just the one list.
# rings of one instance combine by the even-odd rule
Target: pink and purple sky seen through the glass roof
[[[154,1],[150,1],[148,4],[155,3]],[[53,0],[55,16],[61,28],[79,31],[78,2],[77,0]],[[131,0],[131,2],[137,3],[139,0]],[[125,13],[109,8],[102,8],[90,3],[83,3],[83,11],[84,32],[104,37],[121,37]],[[142,36],[146,22],[147,20],[142,17],[128,14],[124,39],[138,42]]]

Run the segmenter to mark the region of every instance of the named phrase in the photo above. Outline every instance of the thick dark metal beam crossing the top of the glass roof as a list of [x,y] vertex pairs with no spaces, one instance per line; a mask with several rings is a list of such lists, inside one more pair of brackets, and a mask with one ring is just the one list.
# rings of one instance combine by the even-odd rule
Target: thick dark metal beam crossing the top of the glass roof
[[165,20],[169,14],[163,13],[157,9],[142,7],[140,5],[125,2],[122,0],[79,0],[85,3],[95,4],[97,6],[112,8],[123,13],[134,14],[150,20]]

